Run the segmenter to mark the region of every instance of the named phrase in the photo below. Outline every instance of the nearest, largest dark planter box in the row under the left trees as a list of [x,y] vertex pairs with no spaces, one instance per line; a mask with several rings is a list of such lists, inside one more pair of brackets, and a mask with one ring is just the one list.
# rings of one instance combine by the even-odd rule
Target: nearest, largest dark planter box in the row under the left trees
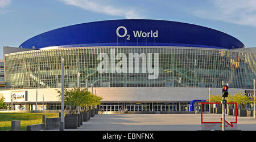
[[77,129],[77,115],[66,114],[64,117],[65,129]]

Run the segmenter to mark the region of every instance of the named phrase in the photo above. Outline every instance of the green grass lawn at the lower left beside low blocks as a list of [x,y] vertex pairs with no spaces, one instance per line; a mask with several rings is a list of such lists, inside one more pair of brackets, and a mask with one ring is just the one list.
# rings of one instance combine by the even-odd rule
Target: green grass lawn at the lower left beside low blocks
[[0,131],[11,130],[11,121],[20,120],[20,130],[27,130],[27,125],[42,123],[42,116],[59,117],[59,113],[0,113]]

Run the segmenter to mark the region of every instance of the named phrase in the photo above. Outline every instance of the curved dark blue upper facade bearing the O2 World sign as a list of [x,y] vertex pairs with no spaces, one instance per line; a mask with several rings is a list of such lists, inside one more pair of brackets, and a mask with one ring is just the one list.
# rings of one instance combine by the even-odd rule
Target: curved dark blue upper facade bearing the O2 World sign
[[[117,28],[119,28],[117,35]],[[127,30],[125,34],[125,29]],[[123,36],[123,37],[122,37]],[[140,36],[140,37],[139,37]],[[226,33],[199,25],[164,20],[107,20],[54,29],[23,42],[22,48],[49,46],[184,46],[218,49],[244,48]],[[20,47],[19,46],[19,47]]]

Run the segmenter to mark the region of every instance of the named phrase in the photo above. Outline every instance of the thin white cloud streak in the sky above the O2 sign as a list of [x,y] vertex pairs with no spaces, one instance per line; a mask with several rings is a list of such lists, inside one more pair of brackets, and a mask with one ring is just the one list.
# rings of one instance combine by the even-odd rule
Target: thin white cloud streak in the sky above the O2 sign
[[127,19],[143,19],[144,16],[138,13],[136,8],[131,7],[115,7],[112,5],[104,5],[102,3],[91,0],[59,0],[67,5],[77,6],[84,10],[108,14],[112,16],[124,16]]

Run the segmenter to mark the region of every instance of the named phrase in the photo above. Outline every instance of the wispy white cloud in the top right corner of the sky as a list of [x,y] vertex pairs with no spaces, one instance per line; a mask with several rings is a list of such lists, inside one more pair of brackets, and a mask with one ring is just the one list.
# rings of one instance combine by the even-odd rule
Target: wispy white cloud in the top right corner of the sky
[[205,19],[256,27],[255,0],[209,0],[209,2],[213,4],[212,8],[199,8],[193,14]]

